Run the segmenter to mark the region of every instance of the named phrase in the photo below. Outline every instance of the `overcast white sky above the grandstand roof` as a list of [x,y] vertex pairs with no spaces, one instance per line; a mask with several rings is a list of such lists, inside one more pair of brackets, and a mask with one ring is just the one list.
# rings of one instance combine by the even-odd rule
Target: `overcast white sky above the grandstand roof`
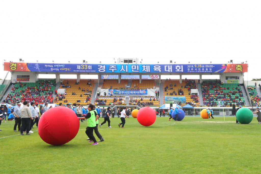
[[[260,78],[261,1],[0,1],[0,60],[249,64]],[[5,72],[0,66],[0,78]]]

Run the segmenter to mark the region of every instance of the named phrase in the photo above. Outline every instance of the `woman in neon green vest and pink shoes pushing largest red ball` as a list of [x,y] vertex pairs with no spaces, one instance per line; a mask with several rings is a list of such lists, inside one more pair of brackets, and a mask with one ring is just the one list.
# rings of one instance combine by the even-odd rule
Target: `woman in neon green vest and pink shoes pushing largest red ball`
[[95,110],[94,106],[95,105],[90,103],[87,108],[89,111],[87,115],[85,115],[85,117],[78,117],[78,119],[85,119],[85,118],[88,119],[88,126],[86,127],[85,133],[90,138],[89,143],[94,142],[92,145],[97,145],[99,143],[96,141],[95,137],[93,136],[93,130],[96,127],[96,120],[99,118],[99,116],[94,112]]

